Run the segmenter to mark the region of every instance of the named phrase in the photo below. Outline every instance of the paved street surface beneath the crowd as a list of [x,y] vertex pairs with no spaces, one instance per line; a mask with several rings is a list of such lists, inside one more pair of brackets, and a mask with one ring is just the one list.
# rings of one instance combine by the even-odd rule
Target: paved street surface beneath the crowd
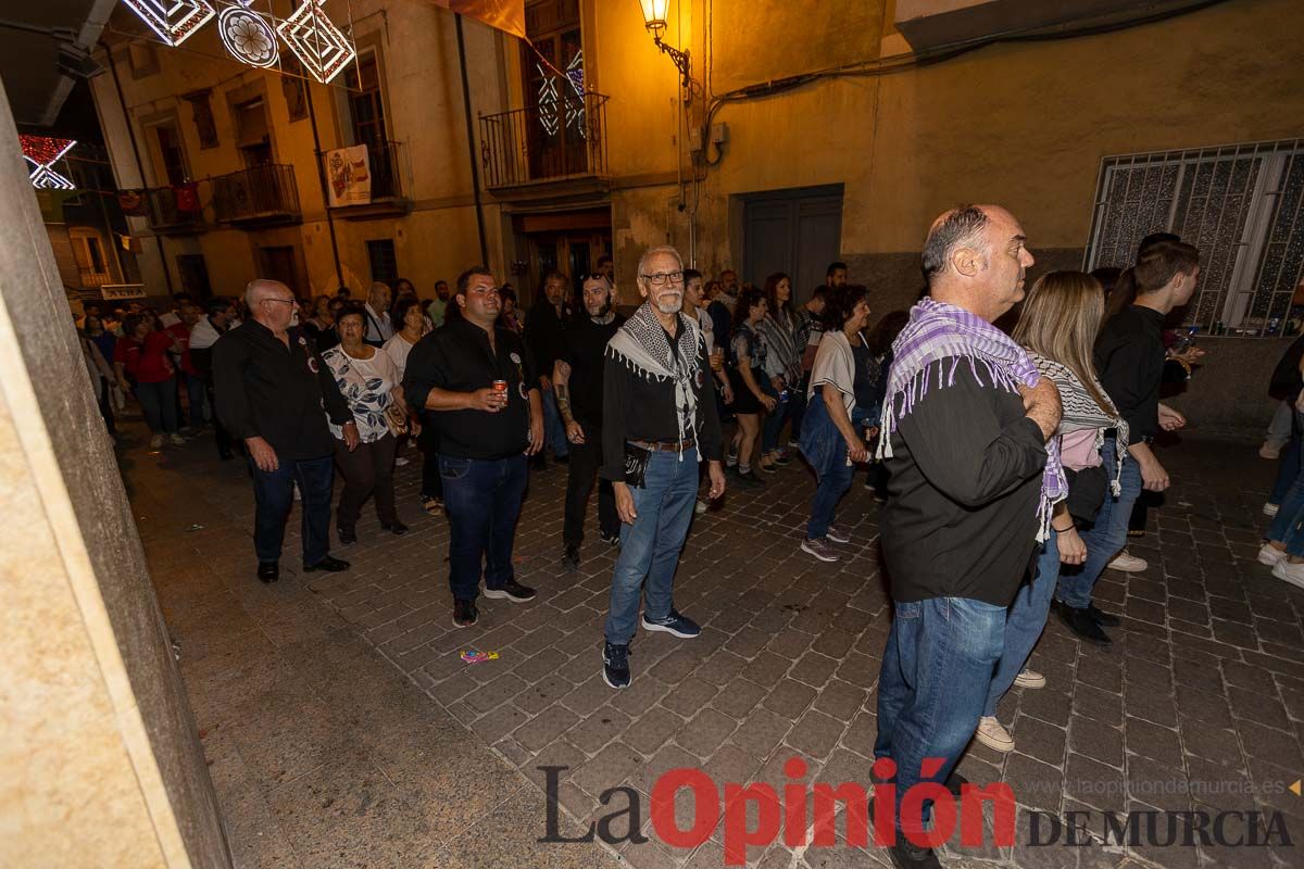
[[[702,767],[726,782],[867,784],[875,684],[889,607],[878,567],[878,506],[857,478],[840,521],[844,560],[798,551],[814,483],[798,463],[760,492],[735,492],[696,517],[675,605],[702,637],[636,637],[634,684],[601,679],[601,623],[615,552],[596,533],[578,573],[559,565],[566,470],[535,474],[516,538],[528,605],[481,599],[480,624],[451,623],[447,528],[416,499],[420,460],[399,469],[412,532],[382,534],[374,513],[359,543],[334,554],[343,575],[300,576],[297,512],[282,581],[253,577],[253,496],[239,463],[206,438],[149,455],[137,433],[124,476],[159,602],[181,645],[232,849],[241,866],[600,866],[593,844],[540,844],[540,766],[565,766],[562,834],[640,797],[649,840],[621,843],[634,866],[720,866],[724,823],[675,849],[651,831],[651,791],[665,770]],[[1254,562],[1273,466],[1253,446],[1188,439],[1162,452],[1175,479],[1132,552],[1140,575],[1110,572],[1104,608],[1123,615],[1115,644],[1077,642],[1052,616],[1031,667],[1041,691],[1000,709],[1016,750],[977,743],[961,765],[975,783],[1004,780],[1018,799],[1013,848],[948,846],[947,865],[1294,866],[1294,848],[1029,847],[1028,812],[1271,812],[1304,836],[1304,591]],[[368,508],[370,511],[370,508]],[[188,530],[192,525],[202,529]],[[466,649],[497,661],[467,664]],[[805,778],[784,762],[801,757]],[[795,803],[795,800],[794,800]],[[681,797],[679,825],[691,826]],[[988,809],[988,822],[991,812]],[[751,813],[755,822],[755,812]],[[629,816],[610,826],[629,829]],[[1046,835],[1043,823],[1042,835]],[[837,818],[838,838],[845,819]],[[1142,831],[1145,823],[1141,825]],[[1167,821],[1155,831],[1161,839]],[[1237,836],[1244,821],[1228,821]],[[1181,839],[1180,833],[1178,836]],[[751,847],[748,864],[885,865],[850,846]]]

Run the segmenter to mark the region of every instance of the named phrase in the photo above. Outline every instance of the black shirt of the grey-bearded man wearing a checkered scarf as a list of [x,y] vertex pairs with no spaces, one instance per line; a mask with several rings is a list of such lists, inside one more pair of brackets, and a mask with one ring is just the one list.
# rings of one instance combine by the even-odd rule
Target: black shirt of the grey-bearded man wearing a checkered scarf
[[[647,304],[647,302],[644,302]],[[679,328],[689,321],[679,317]],[[678,332],[677,332],[678,335]],[[669,337],[669,336],[668,336]],[[674,353],[675,341],[669,341]],[[698,453],[704,460],[720,460],[720,416],[716,412],[715,378],[707,360],[707,343],[698,340],[698,370],[692,379],[698,397]],[[625,443],[679,440],[679,414],[674,406],[674,383],[643,377],[623,361],[608,354],[602,374],[602,468],[604,479],[625,479]],[[691,433],[685,433],[691,438]]]

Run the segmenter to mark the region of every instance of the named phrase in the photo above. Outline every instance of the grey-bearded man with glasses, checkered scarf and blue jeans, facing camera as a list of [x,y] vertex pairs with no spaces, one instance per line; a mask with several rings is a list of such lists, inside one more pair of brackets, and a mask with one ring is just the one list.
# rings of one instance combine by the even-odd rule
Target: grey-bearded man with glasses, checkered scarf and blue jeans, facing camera
[[602,374],[602,470],[615,491],[621,555],[602,649],[602,679],[630,684],[630,641],[639,598],[643,629],[696,637],[702,628],[674,608],[674,571],[705,457],[711,498],[725,490],[720,418],[702,330],[681,313],[683,261],[652,248],[638,270],[645,300],[606,345]]

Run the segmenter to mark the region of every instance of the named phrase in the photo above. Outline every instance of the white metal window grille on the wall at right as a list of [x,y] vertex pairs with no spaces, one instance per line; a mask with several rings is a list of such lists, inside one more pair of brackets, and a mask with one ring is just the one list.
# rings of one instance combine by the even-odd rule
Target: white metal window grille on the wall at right
[[1187,323],[1266,337],[1291,324],[1304,270],[1304,139],[1108,156],[1101,164],[1088,270],[1127,268],[1151,232],[1200,249]]

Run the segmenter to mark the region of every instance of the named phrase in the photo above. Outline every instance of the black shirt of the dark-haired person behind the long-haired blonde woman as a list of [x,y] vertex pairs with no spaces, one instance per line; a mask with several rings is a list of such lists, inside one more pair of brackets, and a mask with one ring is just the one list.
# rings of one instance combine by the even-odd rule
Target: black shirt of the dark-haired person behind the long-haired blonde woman
[[1159,434],[1163,360],[1163,314],[1150,307],[1124,307],[1095,340],[1095,371],[1132,429],[1131,443]]

